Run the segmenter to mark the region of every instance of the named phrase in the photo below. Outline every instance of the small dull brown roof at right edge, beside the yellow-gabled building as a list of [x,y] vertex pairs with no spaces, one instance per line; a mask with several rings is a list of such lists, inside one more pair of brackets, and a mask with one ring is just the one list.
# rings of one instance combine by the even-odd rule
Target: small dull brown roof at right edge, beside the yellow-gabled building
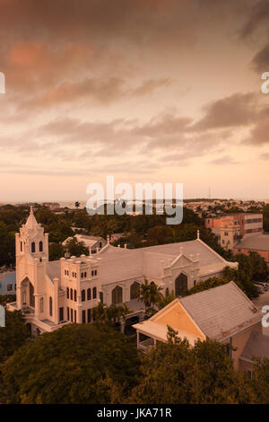
[[269,359],[269,337],[257,331],[251,332],[240,359],[250,361],[254,356]]

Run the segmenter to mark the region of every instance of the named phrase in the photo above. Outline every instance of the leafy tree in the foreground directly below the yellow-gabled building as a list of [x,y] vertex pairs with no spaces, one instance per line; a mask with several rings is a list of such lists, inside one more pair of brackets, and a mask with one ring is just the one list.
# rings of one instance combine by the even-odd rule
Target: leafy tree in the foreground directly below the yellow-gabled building
[[[173,331],[173,330],[172,330]],[[169,333],[168,343],[143,356],[130,402],[143,404],[248,403],[251,388],[237,374],[224,345],[207,339],[190,347]]]

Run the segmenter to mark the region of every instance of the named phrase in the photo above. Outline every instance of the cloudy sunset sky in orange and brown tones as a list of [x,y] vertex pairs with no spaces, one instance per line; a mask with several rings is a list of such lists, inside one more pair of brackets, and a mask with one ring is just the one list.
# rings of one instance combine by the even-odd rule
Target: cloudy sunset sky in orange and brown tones
[[269,198],[267,0],[0,0],[0,202]]

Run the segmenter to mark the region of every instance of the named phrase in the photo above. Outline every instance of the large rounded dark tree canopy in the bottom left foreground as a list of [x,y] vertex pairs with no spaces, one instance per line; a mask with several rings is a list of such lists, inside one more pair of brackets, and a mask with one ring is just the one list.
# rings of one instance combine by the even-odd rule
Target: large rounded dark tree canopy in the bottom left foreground
[[68,324],[22,346],[3,365],[4,403],[113,403],[139,374],[129,338],[105,324]]

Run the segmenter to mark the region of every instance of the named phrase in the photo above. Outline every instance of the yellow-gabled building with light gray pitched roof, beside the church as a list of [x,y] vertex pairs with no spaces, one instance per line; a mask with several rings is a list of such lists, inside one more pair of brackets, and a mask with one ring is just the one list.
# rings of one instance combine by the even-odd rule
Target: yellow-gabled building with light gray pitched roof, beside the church
[[[137,347],[143,350],[157,341],[167,342],[168,326],[178,331],[178,338],[187,338],[190,346],[194,346],[198,338],[212,338],[226,345],[235,369],[244,370],[240,359],[250,355],[250,347],[246,352],[250,336],[262,336],[261,320],[262,313],[255,304],[230,281],[195,295],[178,297],[149,320],[134,324],[134,329]],[[268,346],[265,338],[262,341]],[[256,347],[256,356],[264,353],[265,347],[261,350]]]

